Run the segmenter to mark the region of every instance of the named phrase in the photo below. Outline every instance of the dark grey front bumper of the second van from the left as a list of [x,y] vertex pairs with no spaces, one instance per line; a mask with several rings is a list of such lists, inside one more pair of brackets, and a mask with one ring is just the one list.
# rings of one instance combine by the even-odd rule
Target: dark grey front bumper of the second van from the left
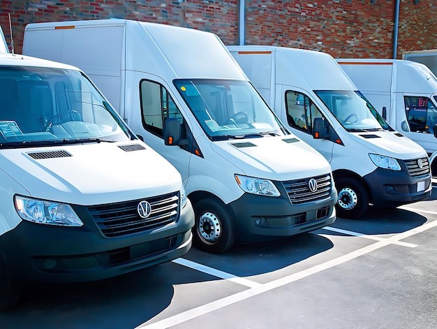
[[269,240],[329,226],[336,219],[336,191],[317,203],[292,205],[288,196],[270,197],[244,193],[229,206],[240,241]]

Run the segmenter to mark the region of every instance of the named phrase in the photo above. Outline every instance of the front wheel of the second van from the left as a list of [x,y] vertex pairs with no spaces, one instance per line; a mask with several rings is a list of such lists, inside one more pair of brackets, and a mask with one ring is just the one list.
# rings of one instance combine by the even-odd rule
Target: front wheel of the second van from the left
[[194,205],[194,245],[212,254],[228,251],[235,241],[231,216],[225,207],[212,198]]

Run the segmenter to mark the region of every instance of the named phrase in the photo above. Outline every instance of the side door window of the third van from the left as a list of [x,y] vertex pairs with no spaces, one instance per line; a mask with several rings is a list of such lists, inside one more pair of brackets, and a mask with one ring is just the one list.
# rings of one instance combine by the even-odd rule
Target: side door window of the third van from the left
[[286,92],[287,122],[290,126],[306,133],[313,133],[313,120],[323,117],[309,96],[301,92]]

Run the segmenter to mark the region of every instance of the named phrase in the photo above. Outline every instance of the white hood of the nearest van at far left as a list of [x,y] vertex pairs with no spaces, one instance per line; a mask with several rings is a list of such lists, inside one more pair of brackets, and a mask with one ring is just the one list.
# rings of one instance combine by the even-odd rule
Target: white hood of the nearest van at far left
[[34,198],[97,205],[179,191],[177,170],[133,141],[1,149],[1,169]]

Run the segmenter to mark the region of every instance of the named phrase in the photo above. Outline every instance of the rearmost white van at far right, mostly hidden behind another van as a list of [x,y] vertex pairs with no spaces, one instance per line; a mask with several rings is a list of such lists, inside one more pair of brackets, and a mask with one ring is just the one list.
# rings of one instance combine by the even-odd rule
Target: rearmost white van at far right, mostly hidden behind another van
[[428,153],[437,176],[437,78],[427,66],[402,59],[337,59],[387,123]]

